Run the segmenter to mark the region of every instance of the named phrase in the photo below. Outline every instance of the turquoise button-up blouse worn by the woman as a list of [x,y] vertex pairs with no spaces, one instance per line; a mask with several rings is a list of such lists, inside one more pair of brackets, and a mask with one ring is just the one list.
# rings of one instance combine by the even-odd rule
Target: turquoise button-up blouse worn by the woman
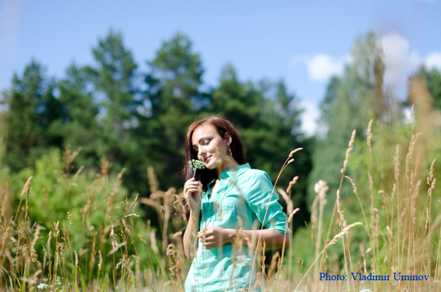
[[[268,174],[251,169],[248,163],[224,171],[220,174],[216,194],[210,196],[211,189],[207,187],[202,196],[199,230],[210,226],[236,229],[239,216],[244,230],[252,230],[253,223],[258,220],[265,228],[289,233],[285,231],[287,216],[278,203],[276,192],[269,202],[272,190]],[[268,203],[267,217],[263,222]],[[254,254],[249,255],[248,248],[243,247],[241,253],[236,251],[236,256],[232,258],[232,248],[233,244],[224,244],[215,249],[205,249],[198,240],[198,251],[185,281],[185,291],[240,291],[248,289],[250,278],[255,283],[256,264],[253,275],[251,273]]]

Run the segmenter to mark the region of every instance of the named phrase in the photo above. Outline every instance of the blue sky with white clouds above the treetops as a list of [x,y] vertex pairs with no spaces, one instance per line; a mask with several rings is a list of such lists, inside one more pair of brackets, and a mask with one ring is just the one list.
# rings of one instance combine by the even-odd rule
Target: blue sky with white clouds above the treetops
[[0,1],[0,90],[32,58],[48,76],[72,62],[93,63],[92,48],[114,29],[141,70],[161,43],[183,32],[201,54],[205,84],[233,63],[240,80],[283,78],[314,132],[331,74],[341,74],[358,36],[381,36],[387,84],[405,96],[420,63],[441,70],[441,1]]

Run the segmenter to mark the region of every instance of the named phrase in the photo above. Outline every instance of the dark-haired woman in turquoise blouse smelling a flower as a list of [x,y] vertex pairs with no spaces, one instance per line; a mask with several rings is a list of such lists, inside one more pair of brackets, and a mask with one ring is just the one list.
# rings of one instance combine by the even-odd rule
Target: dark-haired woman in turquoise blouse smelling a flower
[[[194,121],[185,136],[185,149],[186,161],[198,159],[205,166],[196,170],[195,178],[194,171],[185,166],[189,223],[183,241],[185,255],[193,260],[185,291],[240,291],[248,289],[250,281],[253,287],[254,255],[248,254],[246,240],[234,244],[240,234],[236,227],[250,240],[260,236],[267,248],[283,247],[284,241],[285,247],[289,246],[286,215],[277,202],[278,195],[274,192],[271,196],[271,180],[265,171],[245,163],[240,134],[222,116]],[[266,229],[256,228],[255,222],[263,223]],[[238,248],[238,243],[243,247]]]

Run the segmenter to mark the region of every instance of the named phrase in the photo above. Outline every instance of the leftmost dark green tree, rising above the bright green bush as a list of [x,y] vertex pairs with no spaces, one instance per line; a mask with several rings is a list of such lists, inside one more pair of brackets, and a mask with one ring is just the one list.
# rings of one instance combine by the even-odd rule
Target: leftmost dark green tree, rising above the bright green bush
[[[14,75],[9,103],[6,164],[12,171],[32,165],[48,146],[61,147],[61,139],[50,131],[52,122],[63,118],[59,101],[52,95],[52,81],[36,61],[25,68],[23,77]],[[3,95],[5,96],[5,95]]]

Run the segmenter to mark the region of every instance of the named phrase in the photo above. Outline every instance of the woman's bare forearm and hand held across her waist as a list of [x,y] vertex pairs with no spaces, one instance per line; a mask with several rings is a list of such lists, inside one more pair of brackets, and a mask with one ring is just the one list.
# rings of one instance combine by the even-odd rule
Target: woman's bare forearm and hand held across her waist
[[[247,236],[249,240],[252,240],[253,236],[258,240],[265,240],[266,247],[268,249],[277,249],[283,247],[283,241],[285,240],[285,248],[289,247],[290,240],[289,234],[280,233],[274,229],[262,229],[262,230],[243,230],[243,234]],[[233,243],[236,240],[236,229],[225,229],[221,227],[204,227],[198,232],[199,240],[203,241],[205,248],[214,249],[220,247],[223,244]],[[185,239],[184,239],[185,240]],[[244,240],[243,245],[247,245]]]

